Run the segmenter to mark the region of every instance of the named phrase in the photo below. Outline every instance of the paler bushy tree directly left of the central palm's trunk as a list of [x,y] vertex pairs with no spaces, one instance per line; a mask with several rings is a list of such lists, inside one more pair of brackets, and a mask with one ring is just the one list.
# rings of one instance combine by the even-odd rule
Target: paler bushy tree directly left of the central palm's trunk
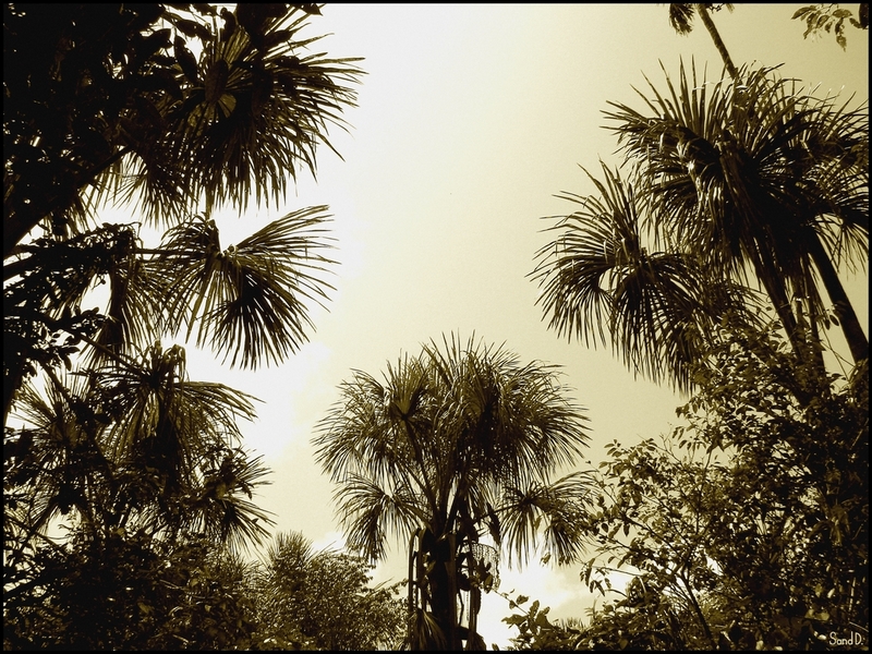
[[385,650],[405,638],[400,584],[370,586],[358,556],[315,552],[301,533],[277,534],[251,588],[258,650]]

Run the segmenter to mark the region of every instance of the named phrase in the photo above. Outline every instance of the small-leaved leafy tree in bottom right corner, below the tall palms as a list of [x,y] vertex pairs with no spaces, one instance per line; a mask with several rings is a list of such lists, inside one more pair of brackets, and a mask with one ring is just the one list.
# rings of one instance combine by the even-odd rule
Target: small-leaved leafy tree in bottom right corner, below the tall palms
[[[602,464],[582,579],[619,598],[584,645],[808,649],[868,630],[867,364],[822,379],[774,334],[741,329],[714,356],[679,409],[689,427],[616,443]],[[618,570],[634,577],[625,591]]]

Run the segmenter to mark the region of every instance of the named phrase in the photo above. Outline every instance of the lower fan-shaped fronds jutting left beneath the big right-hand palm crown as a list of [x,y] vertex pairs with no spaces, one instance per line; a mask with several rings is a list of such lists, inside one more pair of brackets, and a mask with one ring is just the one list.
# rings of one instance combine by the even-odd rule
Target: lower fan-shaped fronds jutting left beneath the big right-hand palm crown
[[[585,346],[610,342],[630,370],[687,390],[706,335],[750,293],[706,278],[695,255],[649,253],[632,186],[603,171],[604,182],[591,175],[597,196],[564,196],[581,209],[549,228],[560,235],[537,253],[543,311],[558,334]],[[655,235],[652,244],[658,240],[668,243]]]

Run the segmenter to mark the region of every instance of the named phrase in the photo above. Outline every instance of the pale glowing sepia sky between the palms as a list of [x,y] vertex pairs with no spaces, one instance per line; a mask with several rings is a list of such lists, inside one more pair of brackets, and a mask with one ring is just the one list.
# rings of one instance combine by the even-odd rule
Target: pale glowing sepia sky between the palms
[[[714,20],[737,65],[784,62],[785,76],[868,98],[868,34],[847,27],[847,52],[832,35],[803,40],[804,24],[790,20],[798,7],[738,4]],[[344,161],[323,149],[317,183],[301,177],[288,206],[219,226],[230,244],[290,210],[330,205],[337,291],[328,311],[313,312],[311,342],[280,367],[216,368],[189,348],[192,379],[264,401],[243,432],[275,471],[259,497],[276,513],[275,529],[300,530],[317,546],[341,544],[334,488],[310,445],[316,423],[352,368],[380,374],[401,351],[417,353],[452,330],[505,341],[524,362],[564,366],[591,419],[594,464],[614,439],[667,432],[681,399],[634,380],[609,351],[547,330],[528,275],[549,240],[541,217],[572,210],[555,194],[593,192],[579,165],[618,162],[601,128],[607,100],[641,107],[631,86],[643,88],[646,74],[663,88],[658,60],[675,74],[679,57],[693,58],[719,76],[702,24],[680,37],[663,4],[328,4],[323,13],[311,33],[331,36],[318,51],[364,57],[367,72],[360,107],[347,113],[351,133],[332,133]],[[867,271],[852,289],[868,334]],[[378,580],[405,574],[404,544],[391,552]],[[591,596],[578,574],[579,566],[556,570],[534,559],[523,572],[501,570],[500,590],[540,600],[552,616],[586,619]],[[508,644],[500,619],[510,613],[505,600],[484,597],[488,646]]]

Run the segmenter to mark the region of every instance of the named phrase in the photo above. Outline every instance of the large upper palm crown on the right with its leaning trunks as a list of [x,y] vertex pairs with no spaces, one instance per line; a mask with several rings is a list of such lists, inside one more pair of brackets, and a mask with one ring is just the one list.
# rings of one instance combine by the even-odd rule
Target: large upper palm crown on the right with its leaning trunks
[[656,118],[626,105],[606,114],[627,158],[645,157],[640,193],[661,230],[727,275],[749,266],[795,344],[797,300],[812,335],[829,313],[820,278],[855,363],[865,359],[869,340],[834,262],[862,266],[868,256],[868,111],[804,95],[772,69],[722,78],[711,97],[695,71],[680,75],[679,88],[667,76],[668,96],[652,85]]

